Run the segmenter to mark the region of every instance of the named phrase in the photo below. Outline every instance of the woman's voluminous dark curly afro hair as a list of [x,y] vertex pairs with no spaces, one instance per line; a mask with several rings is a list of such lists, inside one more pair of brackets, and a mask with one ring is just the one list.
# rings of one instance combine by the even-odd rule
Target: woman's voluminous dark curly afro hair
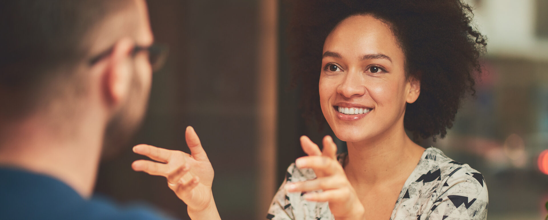
[[318,81],[323,43],[351,15],[372,15],[390,25],[405,54],[407,77],[421,91],[408,103],[404,128],[426,139],[444,137],[467,94],[475,94],[475,75],[486,38],[472,24],[472,8],[459,0],[299,0],[289,1],[288,28],[293,85],[302,88],[302,108],[320,124]]

